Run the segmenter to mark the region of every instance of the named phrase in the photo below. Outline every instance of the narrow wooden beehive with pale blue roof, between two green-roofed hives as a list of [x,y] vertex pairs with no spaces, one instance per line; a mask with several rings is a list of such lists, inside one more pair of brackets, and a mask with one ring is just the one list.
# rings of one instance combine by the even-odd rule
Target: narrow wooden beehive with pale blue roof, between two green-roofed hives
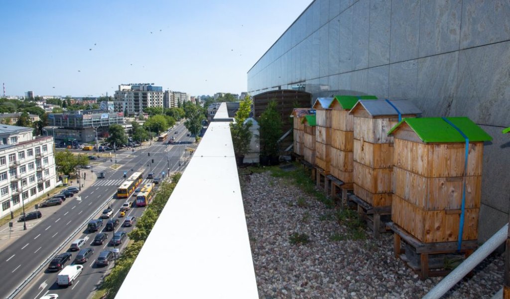
[[333,98],[317,98],[313,108],[316,110],[315,166],[329,174],[331,166],[331,109]]

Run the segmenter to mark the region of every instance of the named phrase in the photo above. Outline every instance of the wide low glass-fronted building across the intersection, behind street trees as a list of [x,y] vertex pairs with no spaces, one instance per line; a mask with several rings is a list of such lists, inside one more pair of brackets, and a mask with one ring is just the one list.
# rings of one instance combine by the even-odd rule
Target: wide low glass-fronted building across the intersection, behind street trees
[[113,124],[124,126],[124,113],[107,113],[103,110],[75,111],[48,114],[48,126],[43,130],[56,140],[95,142],[97,137],[106,137]]

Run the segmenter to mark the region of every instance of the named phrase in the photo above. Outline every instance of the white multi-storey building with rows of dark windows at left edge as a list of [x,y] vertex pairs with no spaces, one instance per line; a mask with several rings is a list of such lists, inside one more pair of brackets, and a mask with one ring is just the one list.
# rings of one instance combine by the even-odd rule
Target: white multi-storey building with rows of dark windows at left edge
[[32,131],[0,125],[0,217],[55,188],[53,138]]

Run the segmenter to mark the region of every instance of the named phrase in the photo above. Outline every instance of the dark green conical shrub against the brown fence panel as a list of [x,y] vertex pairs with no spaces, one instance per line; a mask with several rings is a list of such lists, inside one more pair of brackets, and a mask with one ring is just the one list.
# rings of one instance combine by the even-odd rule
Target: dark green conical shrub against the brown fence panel
[[263,156],[278,154],[278,139],[282,137],[282,119],[276,110],[276,101],[269,101],[259,120],[260,148]]

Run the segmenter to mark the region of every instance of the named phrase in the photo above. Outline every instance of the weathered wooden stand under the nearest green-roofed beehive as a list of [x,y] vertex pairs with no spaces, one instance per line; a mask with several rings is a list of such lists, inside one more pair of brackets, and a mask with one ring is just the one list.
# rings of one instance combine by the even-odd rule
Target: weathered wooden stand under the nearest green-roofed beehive
[[423,243],[393,222],[386,225],[394,232],[395,257],[403,260],[421,280],[448,275],[451,269],[446,268],[447,260],[466,259],[478,247],[476,240],[463,241],[460,251],[457,242]]

